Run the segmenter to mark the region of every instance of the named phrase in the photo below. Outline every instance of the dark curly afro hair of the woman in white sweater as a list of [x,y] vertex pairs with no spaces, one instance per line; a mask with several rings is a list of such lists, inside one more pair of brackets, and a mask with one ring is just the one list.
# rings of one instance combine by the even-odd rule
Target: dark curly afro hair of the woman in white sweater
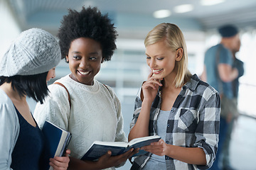
[[61,26],[58,31],[59,44],[62,59],[68,55],[70,44],[77,38],[92,38],[100,42],[102,47],[103,60],[109,61],[117,48],[115,40],[117,31],[111,23],[108,15],[96,8],[82,6],[82,11],[78,12],[69,9],[68,15],[63,16]]

